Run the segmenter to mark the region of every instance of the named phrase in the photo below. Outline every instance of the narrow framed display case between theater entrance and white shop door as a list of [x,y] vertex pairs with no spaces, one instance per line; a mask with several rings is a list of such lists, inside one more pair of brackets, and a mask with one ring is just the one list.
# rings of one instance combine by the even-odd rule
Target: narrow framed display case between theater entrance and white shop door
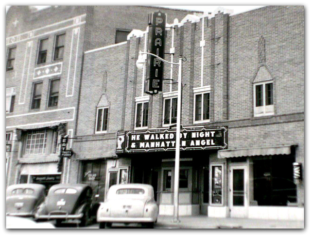
[[223,166],[212,166],[212,203],[223,203]]

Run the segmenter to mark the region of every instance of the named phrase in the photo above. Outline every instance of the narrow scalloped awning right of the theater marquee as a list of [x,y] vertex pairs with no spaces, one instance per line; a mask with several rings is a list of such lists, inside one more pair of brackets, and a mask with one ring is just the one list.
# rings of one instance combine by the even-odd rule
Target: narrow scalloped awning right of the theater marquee
[[218,151],[218,158],[289,155],[291,146],[232,149]]

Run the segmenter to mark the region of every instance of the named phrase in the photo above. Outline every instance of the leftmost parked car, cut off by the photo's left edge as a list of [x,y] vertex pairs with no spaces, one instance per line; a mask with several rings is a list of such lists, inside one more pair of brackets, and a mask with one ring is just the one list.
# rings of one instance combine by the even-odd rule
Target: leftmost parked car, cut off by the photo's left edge
[[41,184],[16,184],[6,190],[6,215],[33,217],[45,199],[45,186]]

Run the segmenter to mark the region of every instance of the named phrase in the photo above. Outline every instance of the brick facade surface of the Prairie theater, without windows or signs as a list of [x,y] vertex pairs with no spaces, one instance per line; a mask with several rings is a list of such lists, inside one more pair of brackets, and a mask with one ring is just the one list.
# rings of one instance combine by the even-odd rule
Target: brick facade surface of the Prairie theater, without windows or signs
[[[164,59],[173,58],[174,63],[180,56],[187,59],[182,66],[181,124],[227,126],[228,150],[297,145],[295,161],[304,166],[303,18],[303,7],[268,6],[235,16],[219,12],[214,16],[186,16],[180,22],[168,21],[173,28],[166,31],[165,52],[174,50],[174,55],[166,54]],[[81,140],[74,143],[80,158],[107,158],[108,163],[109,158],[122,160],[115,153],[115,134],[118,130],[135,130],[135,98],[147,95],[142,93],[144,70],[136,67],[138,52],[145,49],[145,35],[146,32],[141,32],[126,43],[87,51],[77,126],[77,137]],[[260,38],[264,49],[259,48]],[[264,59],[260,59],[260,50]],[[258,74],[260,67],[265,68],[267,78],[274,83],[272,116],[254,116],[254,81],[259,77],[265,81]],[[164,66],[164,78],[177,79],[168,65]],[[210,91],[210,120],[194,124],[193,89],[201,87]],[[176,90],[176,83],[164,84],[163,93],[147,95],[148,129],[163,127],[164,94]],[[109,101],[108,132],[96,135],[96,106],[103,94]],[[224,164],[224,215],[228,216],[231,162],[217,157],[217,152],[206,155],[210,163]],[[134,161],[135,156],[132,158]],[[303,189],[304,181],[297,185],[300,207],[304,204]],[[216,208],[211,207],[210,211]]]

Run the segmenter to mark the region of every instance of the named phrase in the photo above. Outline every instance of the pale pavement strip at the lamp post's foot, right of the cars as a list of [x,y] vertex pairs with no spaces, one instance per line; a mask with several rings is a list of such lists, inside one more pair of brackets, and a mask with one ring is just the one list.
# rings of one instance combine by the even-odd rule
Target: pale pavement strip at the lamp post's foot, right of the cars
[[157,225],[167,229],[303,229],[300,220],[260,220],[238,218],[208,218],[207,216],[180,216],[174,223],[173,216],[158,216]]

